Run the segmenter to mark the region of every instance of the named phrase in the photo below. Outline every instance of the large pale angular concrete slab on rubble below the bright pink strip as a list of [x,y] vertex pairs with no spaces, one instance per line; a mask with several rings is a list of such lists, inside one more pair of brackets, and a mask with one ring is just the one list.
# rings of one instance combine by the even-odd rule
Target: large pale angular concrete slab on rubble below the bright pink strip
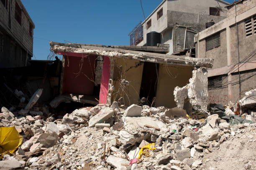
[[110,108],[104,108],[102,110],[100,110],[100,112],[93,116],[90,120],[89,120],[89,127],[92,128],[94,127],[97,123],[102,123],[105,122],[106,120],[108,120],[111,116],[114,115],[114,110],[110,109]]

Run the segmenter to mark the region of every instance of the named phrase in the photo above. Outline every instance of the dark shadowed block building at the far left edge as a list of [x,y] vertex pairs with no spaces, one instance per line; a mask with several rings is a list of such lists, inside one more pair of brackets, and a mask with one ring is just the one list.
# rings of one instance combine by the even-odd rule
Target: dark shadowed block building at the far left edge
[[34,28],[20,0],[1,0],[0,68],[26,66],[33,56]]

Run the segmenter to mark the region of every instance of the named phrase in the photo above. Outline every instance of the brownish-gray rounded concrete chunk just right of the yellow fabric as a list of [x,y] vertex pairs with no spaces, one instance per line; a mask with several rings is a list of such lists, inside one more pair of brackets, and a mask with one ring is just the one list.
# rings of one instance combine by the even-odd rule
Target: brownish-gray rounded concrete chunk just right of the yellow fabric
[[40,143],[46,148],[52,147],[59,140],[58,135],[54,133],[43,133],[39,137]]

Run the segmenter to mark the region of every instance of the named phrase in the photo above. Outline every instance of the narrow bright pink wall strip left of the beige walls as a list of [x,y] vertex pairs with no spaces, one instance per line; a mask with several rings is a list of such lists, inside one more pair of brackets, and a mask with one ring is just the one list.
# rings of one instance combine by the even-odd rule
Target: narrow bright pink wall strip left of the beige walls
[[100,103],[106,104],[108,95],[108,82],[110,76],[110,60],[108,56],[103,57],[103,70],[100,83]]

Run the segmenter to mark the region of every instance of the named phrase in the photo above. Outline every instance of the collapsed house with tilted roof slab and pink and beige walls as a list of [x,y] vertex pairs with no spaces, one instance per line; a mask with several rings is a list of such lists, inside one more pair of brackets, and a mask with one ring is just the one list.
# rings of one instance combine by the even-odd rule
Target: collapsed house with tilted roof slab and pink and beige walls
[[[152,52],[152,47],[148,47],[151,52],[146,52],[147,48],[141,51],[138,46],[57,42],[50,42],[50,46],[56,54],[63,55],[61,96],[51,102],[52,107],[65,101],[118,101],[119,105],[128,106],[140,104],[145,97],[147,105],[155,107],[172,108],[178,104],[187,111],[191,105],[196,110],[207,109],[207,71],[203,67],[211,68],[211,59],[159,54]],[[140,50],[124,50],[128,47]],[[103,62],[97,65],[99,58]],[[95,84],[97,76],[101,76],[100,85]]]

